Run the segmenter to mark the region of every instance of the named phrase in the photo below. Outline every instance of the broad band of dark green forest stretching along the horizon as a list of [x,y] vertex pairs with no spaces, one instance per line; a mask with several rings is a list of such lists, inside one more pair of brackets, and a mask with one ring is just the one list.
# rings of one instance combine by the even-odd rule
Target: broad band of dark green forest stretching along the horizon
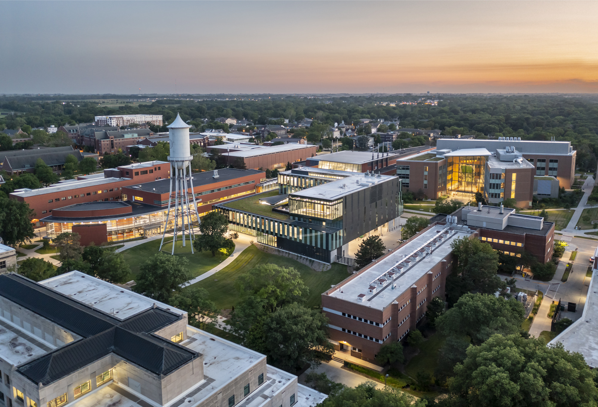
[[[598,153],[598,105],[589,98],[564,96],[467,96],[437,95],[438,105],[419,101],[420,96],[340,96],[299,98],[271,96],[257,100],[181,100],[160,99],[151,104],[99,106],[95,102],[39,102],[24,96],[0,98],[0,110],[14,115],[0,117],[0,129],[41,127],[54,124],[92,122],[105,114],[162,114],[166,122],[180,113],[185,121],[235,117],[256,124],[268,123],[269,117],[291,121],[304,117],[324,124],[352,123],[358,119],[399,119],[402,127],[440,129],[445,135],[473,134],[517,136],[522,139],[572,141],[578,150],[582,169],[592,169]],[[80,98],[80,96],[77,96]],[[81,96],[83,98],[83,96]],[[97,99],[97,96],[90,96]],[[114,96],[111,96],[114,98]],[[417,102],[417,104],[382,105],[380,102]]]

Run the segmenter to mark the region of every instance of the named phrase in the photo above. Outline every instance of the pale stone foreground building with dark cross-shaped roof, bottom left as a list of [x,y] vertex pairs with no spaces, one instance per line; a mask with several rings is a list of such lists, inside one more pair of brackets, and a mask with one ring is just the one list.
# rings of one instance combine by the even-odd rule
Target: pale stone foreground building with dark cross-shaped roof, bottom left
[[72,271],[0,275],[0,397],[11,407],[315,406],[325,394],[186,312]]

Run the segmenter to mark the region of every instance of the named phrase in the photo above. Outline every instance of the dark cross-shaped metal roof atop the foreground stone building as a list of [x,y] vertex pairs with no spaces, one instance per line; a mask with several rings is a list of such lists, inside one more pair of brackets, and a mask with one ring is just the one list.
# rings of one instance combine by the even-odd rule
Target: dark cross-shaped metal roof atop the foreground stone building
[[0,275],[0,296],[83,337],[19,366],[35,384],[50,384],[109,353],[156,375],[167,375],[199,355],[152,334],[184,318],[165,309],[150,308],[120,321],[13,273]]

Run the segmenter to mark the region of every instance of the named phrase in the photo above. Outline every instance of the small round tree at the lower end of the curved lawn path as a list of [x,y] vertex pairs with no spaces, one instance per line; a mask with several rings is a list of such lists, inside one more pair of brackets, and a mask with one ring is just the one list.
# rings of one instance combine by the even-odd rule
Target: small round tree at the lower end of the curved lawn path
[[173,294],[169,304],[186,311],[189,324],[199,329],[214,327],[218,322],[220,310],[209,300],[205,288],[185,288]]

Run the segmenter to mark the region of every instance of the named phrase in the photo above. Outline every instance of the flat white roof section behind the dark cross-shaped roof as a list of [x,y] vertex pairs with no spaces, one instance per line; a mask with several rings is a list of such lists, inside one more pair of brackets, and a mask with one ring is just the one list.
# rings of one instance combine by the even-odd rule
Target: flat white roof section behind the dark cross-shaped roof
[[146,309],[153,308],[154,303],[160,308],[169,309],[175,314],[185,314],[185,311],[174,308],[163,302],[135,293],[100,280],[80,271],[71,271],[56,277],[39,281],[48,288],[65,294],[72,299],[79,300],[86,305],[106,312],[115,318],[124,320]]

